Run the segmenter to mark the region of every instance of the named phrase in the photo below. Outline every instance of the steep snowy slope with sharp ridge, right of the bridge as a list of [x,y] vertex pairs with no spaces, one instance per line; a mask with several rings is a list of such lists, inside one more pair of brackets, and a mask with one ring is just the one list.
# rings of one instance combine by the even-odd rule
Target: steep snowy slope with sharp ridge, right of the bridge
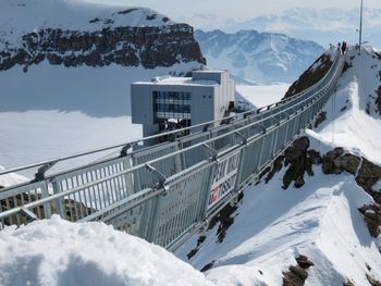
[[[343,146],[381,165],[381,122],[379,111],[374,111],[381,61],[371,49],[349,51],[347,60],[353,67],[344,72],[327,104],[327,120],[307,132],[310,148],[324,154]],[[381,237],[369,235],[358,211],[374,200],[357,185],[356,174],[325,175],[321,165],[314,165],[315,175],[305,177],[302,188],[284,190],[286,169],[283,166],[268,184],[245,189],[222,243],[218,243],[217,225],[206,233],[195,256],[187,258],[198,236],[177,256],[196,269],[212,268],[207,277],[218,285],[281,285],[283,272],[296,265],[295,258],[300,254],[315,264],[308,270],[306,285],[369,285],[369,278],[380,282]]]

